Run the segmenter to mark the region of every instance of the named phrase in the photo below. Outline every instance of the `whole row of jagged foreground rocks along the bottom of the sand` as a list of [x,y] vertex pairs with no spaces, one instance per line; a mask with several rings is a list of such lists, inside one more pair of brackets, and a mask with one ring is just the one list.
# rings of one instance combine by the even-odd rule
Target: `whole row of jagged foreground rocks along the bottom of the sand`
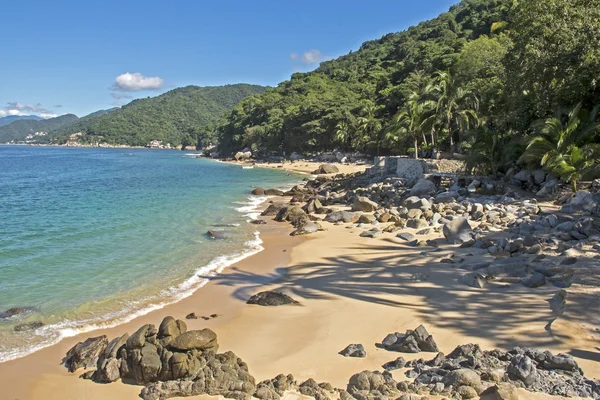
[[[423,399],[443,395],[453,399],[494,394],[516,399],[516,388],[559,396],[600,399],[600,383],[589,380],[568,354],[514,348],[482,351],[476,344],[458,346],[449,355],[438,352],[423,326],[402,335],[388,335],[382,346],[390,351],[437,352],[431,360],[406,362],[403,357],[385,363],[379,371],[353,375],[346,390],[308,379],[298,384],[292,375],[280,374],[256,383],[244,361],[231,351],[218,354],[217,335],[210,329],[188,331],[185,322],[166,317],[158,330],[144,325],[131,336],[111,341],[89,338],[71,348],[63,363],[70,372],[87,369],[84,379],[111,383],[126,379],[144,385],[144,400],[201,394],[249,400],[280,400],[286,392],[316,400]],[[340,352],[366,357],[364,347],[352,344]],[[406,381],[397,382],[389,371],[406,368]]]

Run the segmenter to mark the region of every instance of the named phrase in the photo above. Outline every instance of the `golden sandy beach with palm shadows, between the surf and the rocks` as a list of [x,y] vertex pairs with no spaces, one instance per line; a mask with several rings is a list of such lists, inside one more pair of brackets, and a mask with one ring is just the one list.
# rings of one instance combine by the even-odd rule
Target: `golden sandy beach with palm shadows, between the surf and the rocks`
[[[589,304],[569,307],[547,330],[554,318],[547,303],[555,291],[551,287],[535,293],[521,285],[470,288],[457,282],[454,268],[439,263],[450,248],[461,257],[482,257],[473,249],[414,248],[392,234],[362,238],[356,229],[332,224],[308,239],[291,237],[288,224],[268,221],[261,226],[263,252],[227,268],[191,297],[118,327],[78,335],[0,364],[2,398],[135,399],[140,386],[82,380],[81,371],[67,373],[60,360],[87,337],[113,338],[142,324],[158,325],[168,315],[183,319],[190,312],[219,314],[209,321],[186,320],[188,329],[214,330],[221,351],[234,351],[257,381],[292,373],[298,382],[314,378],[345,388],[351,375],[378,370],[397,356],[375,345],[387,333],[419,324],[427,327],[446,354],[466,343],[504,350],[532,346],[572,354],[586,376],[600,377],[598,342],[581,325]],[[281,290],[301,304],[276,308],[245,304],[252,294],[266,289]],[[367,357],[340,356],[338,352],[350,343],[362,343]],[[393,376],[405,380],[403,370]]]

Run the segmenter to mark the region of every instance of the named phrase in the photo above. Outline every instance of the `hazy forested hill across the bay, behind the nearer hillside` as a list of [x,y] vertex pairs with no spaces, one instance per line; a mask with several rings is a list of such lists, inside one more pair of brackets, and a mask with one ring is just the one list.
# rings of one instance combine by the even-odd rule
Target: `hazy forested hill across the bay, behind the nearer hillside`
[[198,133],[214,125],[240,100],[263,93],[265,87],[236,84],[213,87],[187,86],[157,97],[131,103],[50,133],[54,143],[64,143],[82,132],[82,143],[104,142],[144,146],[152,140],[172,146],[195,145]]

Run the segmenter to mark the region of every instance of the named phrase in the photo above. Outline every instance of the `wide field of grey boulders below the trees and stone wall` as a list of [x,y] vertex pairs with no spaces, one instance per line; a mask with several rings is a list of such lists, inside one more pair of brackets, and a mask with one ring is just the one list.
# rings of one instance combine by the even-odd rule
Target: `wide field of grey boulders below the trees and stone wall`
[[[510,180],[518,183],[517,178]],[[532,188],[556,183],[541,173],[530,178]],[[393,233],[409,246],[438,247],[440,240],[460,244],[482,257],[465,262],[451,255],[441,262],[466,271],[458,279],[475,288],[492,282],[568,288],[581,273],[582,261],[600,257],[595,218],[600,195],[581,190],[563,198],[565,205],[557,212],[521,193],[501,182],[460,176],[410,182],[366,173],[319,175],[282,193],[289,202],[273,201],[262,215],[290,222],[291,235],[322,231],[330,223],[360,230],[366,238]],[[421,239],[424,235],[429,237]]]

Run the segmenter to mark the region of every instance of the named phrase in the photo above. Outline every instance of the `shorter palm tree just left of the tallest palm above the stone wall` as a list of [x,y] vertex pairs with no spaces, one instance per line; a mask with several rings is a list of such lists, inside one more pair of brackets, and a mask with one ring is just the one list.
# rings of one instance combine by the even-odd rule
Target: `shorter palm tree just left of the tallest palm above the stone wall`
[[[425,94],[411,92],[404,106],[392,118],[388,126],[386,139],[395,145],[398,145],[407,136],[412,136],[415,159],[419,158],[419,138],[424,137],[424,126],[427,123],[427,116],[432,110],[435,110],[435,102],[425,98]],[[425,143],[427,143],[425,141]]]

